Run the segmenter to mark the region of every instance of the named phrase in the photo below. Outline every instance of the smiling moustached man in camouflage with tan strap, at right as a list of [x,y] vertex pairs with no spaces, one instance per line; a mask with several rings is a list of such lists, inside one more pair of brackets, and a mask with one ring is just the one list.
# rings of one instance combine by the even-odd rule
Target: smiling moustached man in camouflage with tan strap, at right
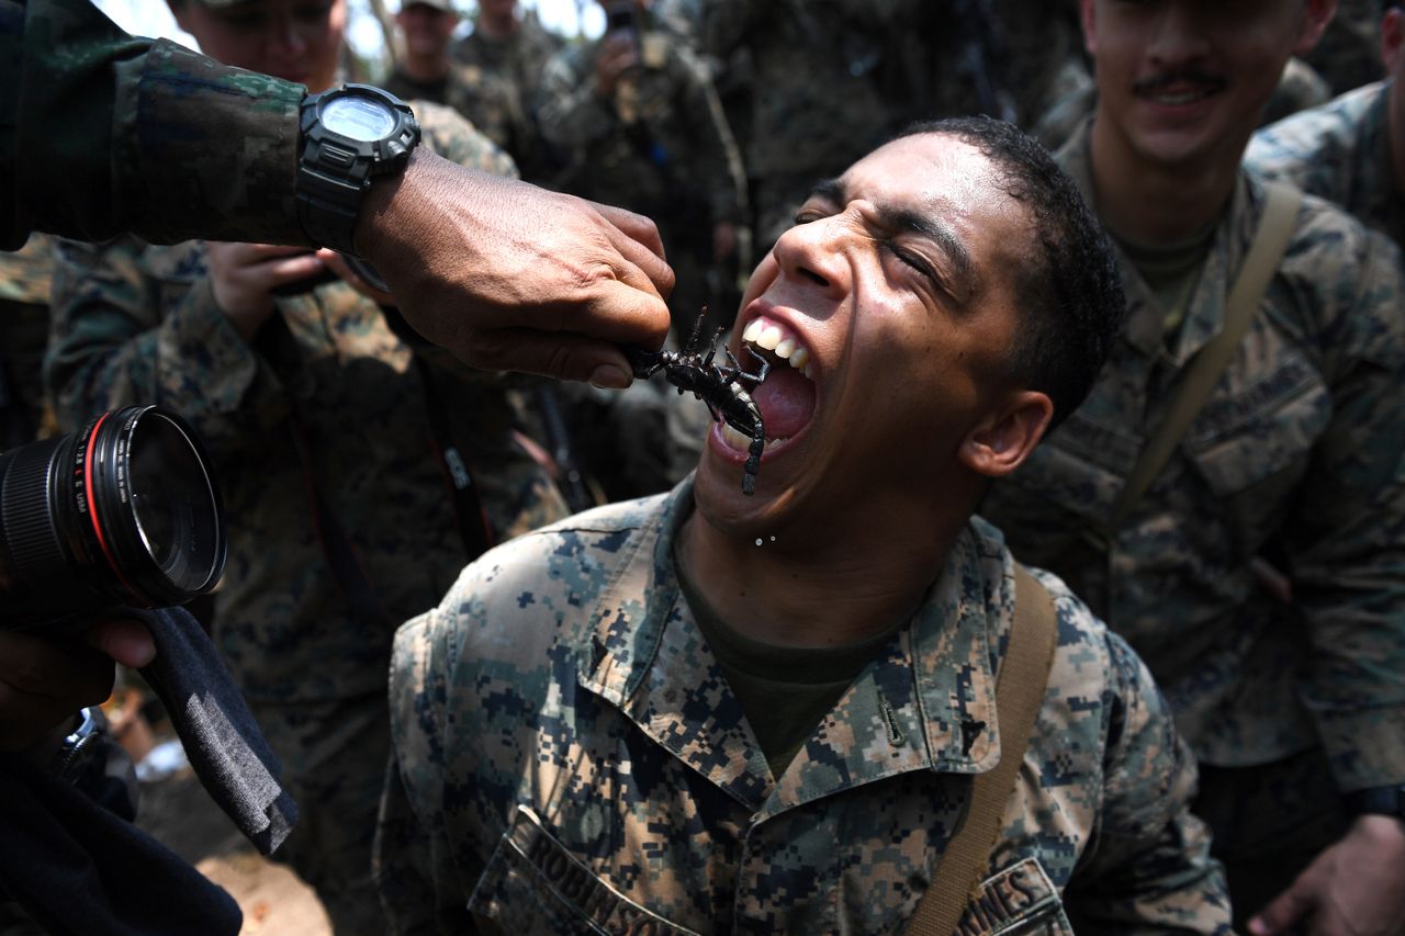
[[1405,932],[1401,254],[1242,166],[1335,7],[1083,0],[1099,105],[1058,159],[1127,323],[981,506],[1151,666],[1256,936]]

